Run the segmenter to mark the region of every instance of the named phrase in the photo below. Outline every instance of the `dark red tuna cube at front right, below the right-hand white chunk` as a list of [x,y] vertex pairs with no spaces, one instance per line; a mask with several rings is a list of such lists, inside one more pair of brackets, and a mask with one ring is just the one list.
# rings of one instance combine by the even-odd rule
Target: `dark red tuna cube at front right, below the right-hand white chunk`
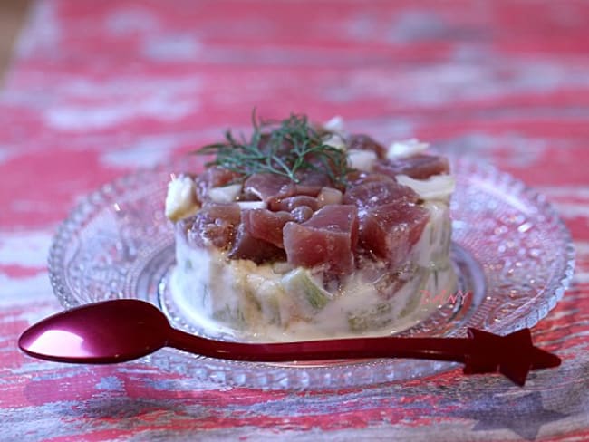
[[405,261],[429,219],[427,209],[403,200],[371,208],[360,223],[361,244],[396,266]]

